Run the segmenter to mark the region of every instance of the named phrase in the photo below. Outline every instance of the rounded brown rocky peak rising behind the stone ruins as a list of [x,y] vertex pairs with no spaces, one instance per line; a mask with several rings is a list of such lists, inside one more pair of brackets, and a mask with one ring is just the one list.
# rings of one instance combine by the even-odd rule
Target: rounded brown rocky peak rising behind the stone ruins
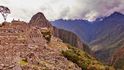
[[41,12],[38,12],[31,18],[29,25],[38,26],[38,27],[51,27],[52,26],[50,22],[45,18],[44,14]]

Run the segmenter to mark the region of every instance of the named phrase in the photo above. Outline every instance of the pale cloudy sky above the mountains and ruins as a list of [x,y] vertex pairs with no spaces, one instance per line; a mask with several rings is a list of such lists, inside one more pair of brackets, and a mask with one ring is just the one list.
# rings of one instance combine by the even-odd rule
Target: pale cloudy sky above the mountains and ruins
[[[29,21],[37,12],[43,12],[48,20],[88,19],[107,16],[114,11],[124,13],[124,0],[0,0],[0,5],[10,8],[8,21]],[[0,22],[3,21],[0,15]]]

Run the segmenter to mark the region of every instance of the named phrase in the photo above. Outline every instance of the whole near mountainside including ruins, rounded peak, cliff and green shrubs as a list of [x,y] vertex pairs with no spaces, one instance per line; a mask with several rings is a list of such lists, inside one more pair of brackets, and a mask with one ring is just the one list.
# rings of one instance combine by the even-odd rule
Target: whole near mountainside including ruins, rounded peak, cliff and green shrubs
[[0,70],[115,70],[90,54],[73,32],[51,25],[42,12],[29,23],[0,25]]

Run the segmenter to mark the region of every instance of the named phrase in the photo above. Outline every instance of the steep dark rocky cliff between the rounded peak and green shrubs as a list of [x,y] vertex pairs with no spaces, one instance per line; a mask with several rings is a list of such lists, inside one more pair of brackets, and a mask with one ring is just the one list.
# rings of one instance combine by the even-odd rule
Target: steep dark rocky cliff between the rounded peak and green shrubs
[[87,45],[85,45],[80,38],[74,34],[73,32],[64,30],[64,29],[59,29],[56,27],[53,27],[53,35],[55,37],[58,37],[63,40],[65,43],[69,43],[72,46],[75,46],[77,48],[80,48],[88,53],[90,53],[90,49]]

